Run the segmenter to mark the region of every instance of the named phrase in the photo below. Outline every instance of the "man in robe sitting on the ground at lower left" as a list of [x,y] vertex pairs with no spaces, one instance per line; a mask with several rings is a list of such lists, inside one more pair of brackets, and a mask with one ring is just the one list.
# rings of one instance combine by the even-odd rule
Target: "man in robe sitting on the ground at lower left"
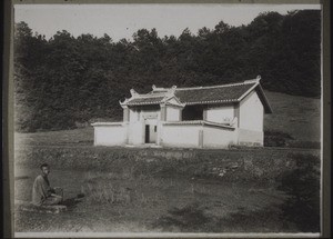
[[[58,205],[62,201],[62,189],[51,188],[48,179],[50,173],[49,166],[43,163],[40,166],[41,175],[34,179],[32,187],[32,203],[36,206]],[[57,192],[60,190],[60,192]],[[61,196],[59,195],[61,193]]]

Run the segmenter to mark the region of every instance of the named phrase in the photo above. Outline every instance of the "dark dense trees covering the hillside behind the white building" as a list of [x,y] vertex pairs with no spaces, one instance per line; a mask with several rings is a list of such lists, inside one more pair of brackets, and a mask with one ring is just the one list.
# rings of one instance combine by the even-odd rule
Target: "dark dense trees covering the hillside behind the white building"
[[261,74],[270,91],[319,98],[321,13],[266,12],[250,24],[219,22],[194,34],[158,36],[138,30],[133,40],[104,34],[77,38],[58,31],[47,40],[16,23],[14,83],[18,131],[75,128],[97,118],[121,118],[129,90],[221,84]]

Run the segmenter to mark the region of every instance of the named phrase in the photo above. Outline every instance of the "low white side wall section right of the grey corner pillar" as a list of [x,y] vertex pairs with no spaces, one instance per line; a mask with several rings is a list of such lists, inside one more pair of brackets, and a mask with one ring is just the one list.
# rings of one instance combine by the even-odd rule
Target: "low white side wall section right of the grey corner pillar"
[[236,145],[238,130],[225,129],[211,126],[203,127],[203,147],[204,148],[228,148],[230,145]]

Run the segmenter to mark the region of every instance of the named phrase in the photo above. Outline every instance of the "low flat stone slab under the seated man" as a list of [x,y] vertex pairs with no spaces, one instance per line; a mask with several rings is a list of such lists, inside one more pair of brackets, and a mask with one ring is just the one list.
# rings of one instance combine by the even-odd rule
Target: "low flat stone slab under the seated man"
[[63,205],[52,205],[52,206],[34,206],[30,201],[16,200],[16,208],[22,211],[42,212],[57,215],[67,211],[67,207]]

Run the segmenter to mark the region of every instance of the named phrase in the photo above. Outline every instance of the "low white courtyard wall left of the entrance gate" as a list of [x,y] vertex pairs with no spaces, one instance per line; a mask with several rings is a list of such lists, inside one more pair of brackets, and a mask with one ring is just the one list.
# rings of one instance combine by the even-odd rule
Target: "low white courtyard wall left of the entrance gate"
[[94,126],[94,146],[122,146],[125,143],[127,128],[117,126]]

